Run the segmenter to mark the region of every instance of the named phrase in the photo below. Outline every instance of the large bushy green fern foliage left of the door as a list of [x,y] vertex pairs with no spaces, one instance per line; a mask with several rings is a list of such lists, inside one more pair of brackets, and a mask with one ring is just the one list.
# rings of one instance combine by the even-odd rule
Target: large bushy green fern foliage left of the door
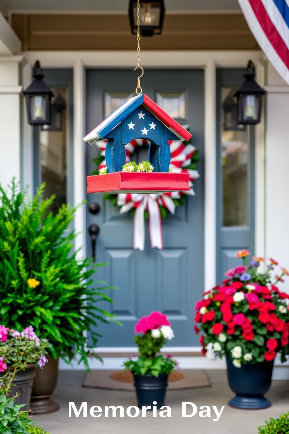
[[[36,335],[49,339],[55,358],[70,362],[79,354],[89,370],[85,332],[95,346],[100,335],[91,327],[116,322],[98,307],[112,302],[104,293],[112,287],[92,279],[105,264],[78,260],[73,252],[76,233],[65,230],[76,209],[63,205],[53,215],[55,196],[43,199],[44,187],[30,200],[14,180],[9,194],[0,186],[0,322],[16,330],[32,325]],[[30,287],[28,279],[38,283]]]

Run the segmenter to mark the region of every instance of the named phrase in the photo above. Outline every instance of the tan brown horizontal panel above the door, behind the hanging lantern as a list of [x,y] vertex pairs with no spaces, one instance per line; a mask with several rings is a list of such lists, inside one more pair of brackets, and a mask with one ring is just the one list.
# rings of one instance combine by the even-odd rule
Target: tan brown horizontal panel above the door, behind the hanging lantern
[[[127,15],[12,13],[13,30],[29,50],[133,50]],[[259,49],[244,16],[168,14],[162,35],[141,39],[143,50]]]

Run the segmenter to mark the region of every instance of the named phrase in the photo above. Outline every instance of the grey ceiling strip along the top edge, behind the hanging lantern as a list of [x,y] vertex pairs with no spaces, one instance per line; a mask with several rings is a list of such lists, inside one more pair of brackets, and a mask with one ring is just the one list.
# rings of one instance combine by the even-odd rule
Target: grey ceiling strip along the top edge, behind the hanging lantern
[[[237,0],[165,0],[167,12],[239,12]],[[128,0],[0,0],[0,11],[127,12]]]

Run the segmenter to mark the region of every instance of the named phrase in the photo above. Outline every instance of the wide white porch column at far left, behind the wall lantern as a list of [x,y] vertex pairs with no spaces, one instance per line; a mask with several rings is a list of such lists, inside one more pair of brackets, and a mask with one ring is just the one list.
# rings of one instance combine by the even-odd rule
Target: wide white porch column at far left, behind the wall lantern
[[0,56],[0,184],[21,179],[20,71],[23,56]]

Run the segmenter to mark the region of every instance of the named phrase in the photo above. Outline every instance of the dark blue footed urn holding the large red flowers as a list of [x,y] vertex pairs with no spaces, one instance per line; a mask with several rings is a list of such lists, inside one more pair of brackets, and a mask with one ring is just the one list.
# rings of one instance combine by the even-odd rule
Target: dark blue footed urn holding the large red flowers
[[229,355],[227,359],[228,383],[236,396],[228,402],[231,407],[256,410],[258,408],[270,407],[271,402],[264,397],[271,386],[274,360],[252,365],[241,363],[236,368]]

